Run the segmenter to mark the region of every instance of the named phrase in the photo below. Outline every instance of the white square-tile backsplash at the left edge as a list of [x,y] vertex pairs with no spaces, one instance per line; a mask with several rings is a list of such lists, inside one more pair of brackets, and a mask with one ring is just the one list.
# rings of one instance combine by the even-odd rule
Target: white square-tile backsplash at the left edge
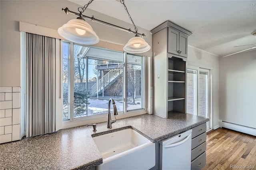
[[0,143],[20,140],[20,87],[0,87]]

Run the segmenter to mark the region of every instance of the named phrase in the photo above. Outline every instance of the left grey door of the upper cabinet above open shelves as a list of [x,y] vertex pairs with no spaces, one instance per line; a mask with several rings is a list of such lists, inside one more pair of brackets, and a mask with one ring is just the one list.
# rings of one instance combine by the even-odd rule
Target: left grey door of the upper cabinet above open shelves
[[179,55],[179,32],[168,28],[168,53]]

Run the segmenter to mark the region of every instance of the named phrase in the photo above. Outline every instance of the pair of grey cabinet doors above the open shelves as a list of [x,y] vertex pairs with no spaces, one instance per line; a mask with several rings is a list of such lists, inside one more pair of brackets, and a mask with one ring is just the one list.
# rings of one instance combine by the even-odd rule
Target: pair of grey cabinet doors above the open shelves
[[168,28],[168,53],[188,57],[188,36]]

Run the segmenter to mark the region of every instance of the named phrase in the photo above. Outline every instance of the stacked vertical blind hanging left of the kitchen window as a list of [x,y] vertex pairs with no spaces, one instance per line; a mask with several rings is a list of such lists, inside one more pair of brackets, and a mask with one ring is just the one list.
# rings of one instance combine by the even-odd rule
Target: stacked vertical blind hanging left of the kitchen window
[[55,38],[26,33],[26,136],[55,131]]

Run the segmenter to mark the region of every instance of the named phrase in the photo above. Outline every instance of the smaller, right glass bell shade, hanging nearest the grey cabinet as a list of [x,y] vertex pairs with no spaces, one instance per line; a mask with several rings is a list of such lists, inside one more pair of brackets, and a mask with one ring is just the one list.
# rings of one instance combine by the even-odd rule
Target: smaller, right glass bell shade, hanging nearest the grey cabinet
[[123,49],[128,53],[144,53],[150,48],[150,45],[143,38],[134,36],[126,43]]

